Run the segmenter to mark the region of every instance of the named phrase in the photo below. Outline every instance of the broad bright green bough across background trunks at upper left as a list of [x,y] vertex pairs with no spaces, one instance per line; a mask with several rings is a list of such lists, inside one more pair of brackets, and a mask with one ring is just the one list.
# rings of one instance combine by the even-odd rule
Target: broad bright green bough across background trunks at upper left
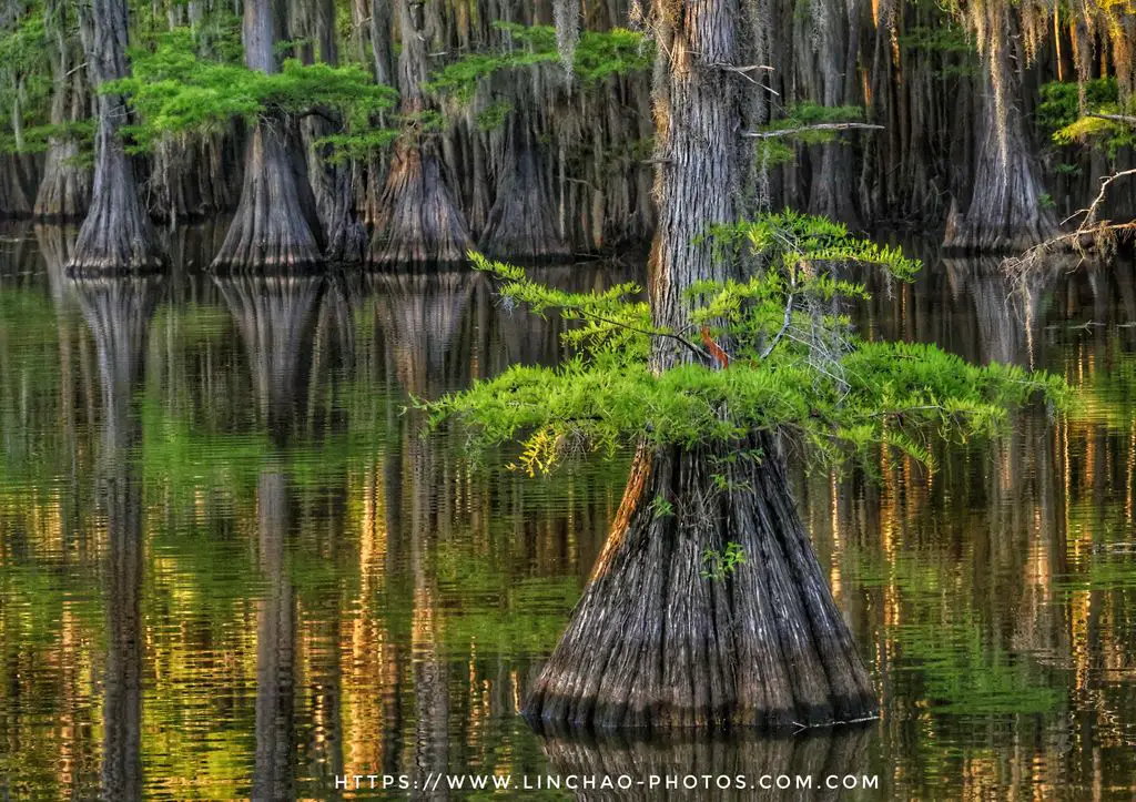
[[[142,149],[169,135],[222,130],[236,117],[254,123],[327,110],[337,111],[348,130],[373,135],[370,116],[394,103],[394,90],[376,84],[360,67],[287,60],[279,73],[267,75],[228,60],[227,47],[220,52],[225,60],[199,55],[193,31],[175,28],[152,51],[132,51],[133,75],[101,91],[131,97],[143,119],[131,133]],[[362,141],[329,144],[359,148]]]

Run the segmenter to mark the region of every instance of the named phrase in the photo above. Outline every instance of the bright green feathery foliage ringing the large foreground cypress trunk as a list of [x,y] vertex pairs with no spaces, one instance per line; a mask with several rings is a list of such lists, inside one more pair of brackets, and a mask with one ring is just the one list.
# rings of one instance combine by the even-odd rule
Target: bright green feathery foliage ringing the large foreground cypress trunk
[[908,277],[916,264],[897,251],[793,212],[712,236],[721,258],[755,265],[745,281],[707,282],[690,293],[692,327],[728,343],[728,368],[701,358],[652,370],[657,341],[701,348],[685,332],[655,327],[637,286],[568,293],[475,253],[479,269],[503,281],[506,303],[574,321],[565,340],[575,356],[556,368],[513,366],[467,392],[418,403],[435,426],[465,425],[475,446],[520,441],[520,467],[535,475],[588,451],[610,454],[637,442],[737,446],[754,432],[782,433],[820,465],[888,448],[933,468],[933,438],[995,435],[1009,406],[1037,394],[1068,402],[1063,382],[1045,374],[857,335],[843,304],[867,291],[838,273],[867,262]]

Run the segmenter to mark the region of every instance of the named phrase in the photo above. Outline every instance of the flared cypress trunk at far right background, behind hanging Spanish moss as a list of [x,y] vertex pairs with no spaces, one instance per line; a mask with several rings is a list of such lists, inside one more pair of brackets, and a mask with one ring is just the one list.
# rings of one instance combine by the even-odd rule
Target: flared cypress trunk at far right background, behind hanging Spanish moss
[[943,244],[960,251],[1020,252],[1058,232],[1021,110],[1020,80],[1010,48],[1013,16],[1005,0],[982,0],[978,15],[986,32],[978,162],[966,215],[953,212]]

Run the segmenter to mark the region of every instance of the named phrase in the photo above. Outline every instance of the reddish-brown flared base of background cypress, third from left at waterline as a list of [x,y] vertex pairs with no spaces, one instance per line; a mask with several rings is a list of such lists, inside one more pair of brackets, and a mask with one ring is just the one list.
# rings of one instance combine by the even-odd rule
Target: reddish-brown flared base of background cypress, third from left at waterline
[[437,157],[400,145],[379,201],[368,261],[451,265],[465,262],[473,244]]

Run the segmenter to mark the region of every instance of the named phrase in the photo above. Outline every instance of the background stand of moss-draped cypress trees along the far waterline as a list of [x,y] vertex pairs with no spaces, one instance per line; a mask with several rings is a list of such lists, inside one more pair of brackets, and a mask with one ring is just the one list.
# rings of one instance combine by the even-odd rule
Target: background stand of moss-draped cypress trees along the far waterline
[[[1018,249],[1133,161],[1124,3],[750,2],[743,133],[759,134],[751,191],[767,208]],[[136,218],[219,212],[236,215],[229,266],[642,243],[655,227],[643,23],[637,0],[3,0],[0,215],[101,210],[122,235],[95,250],[139,264]],[[137,186],[105,182],[106,208],[103,128]],[[1102,214],[1128,219],[1134,203],[1118,183]]]

